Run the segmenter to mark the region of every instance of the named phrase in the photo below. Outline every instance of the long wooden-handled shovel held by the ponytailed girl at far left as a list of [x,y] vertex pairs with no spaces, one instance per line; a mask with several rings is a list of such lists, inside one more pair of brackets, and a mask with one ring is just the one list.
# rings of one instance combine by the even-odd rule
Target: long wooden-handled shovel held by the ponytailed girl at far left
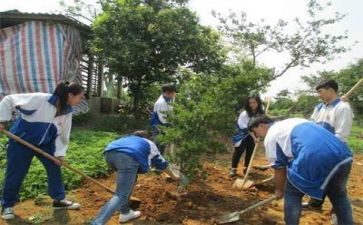
[[[44,156],[45,158],[47,158],[47,159],[49,159],[49,160],[53,161],[54,163],[59,163],[59,160],[58,160],[57,158],[55,158],[54,156],[52,156],[52,155],[50,155],[50,154],[46,153],[46,152],[45,152],[45,151],[43,151],[42,149],[40,149],[40,148],[38,148],[38,147],[36,147],[36,146],[34,146],[34,145],[30,144],[29,142],[24,141],[23,139],[21,139],[20,137],[18,137],[18,136],[16,136],[16,135],[14,135],[14,134],[12,134],[12,133],[10,133],[9,131],[7,131],[7,130],[5,130],[5,129],[4,129],[2,132],[3,132],[6,136],[8,136],[9,138],[11,138],[11,139],[15,140],[16,142],[19,142],[20,144],[25,145],[26,147],[28,147],[28,148],[30,148],[31,150],[33,150],[33,151],[35,151],[35,152],[39,153],[40,155],[42,155],[42,156]],[[111,193],[111,194],[115,194],[115,191],[114,191],[114,190],[112,190],[111,188],[109,188],[109,187],[107,187],[107,186],[105,186],[105,185],[101,184],[100,182],[98,182],[97,180],[95,180],[95,179],[93,179],[92,177],[88,176],[87,174],[83,173],[82,171],[80,171],[80,170],[78,170],[78,169],[76,169],[76,168],[71,167],[71,166],[70,166],[67,162],[63,162],[63,163],[62,163],[62,166],[64,166],[64,167],[66,167],[66,168],[68,168],[68,169],[72,170],[73,172],[75,172],[75,173],[77,173],[77,174],[81,175],[81,176],[82,176],[82,177],[84,177],[86,180],[89,180],[89,181],[91,181],[91,182],[93,182],[93,183],[97,184],[98,186],[100,186],[100,187],[104,188],[107,192],[109,192],[109,193]],[[134,208],[134,209],[135,209],[135,208],[138,208],[138,207],[140,206],[140,204],[141,204],[140,199],[135,198],[135,197],[130,197],[130,206],[131,206],[132,208]]]

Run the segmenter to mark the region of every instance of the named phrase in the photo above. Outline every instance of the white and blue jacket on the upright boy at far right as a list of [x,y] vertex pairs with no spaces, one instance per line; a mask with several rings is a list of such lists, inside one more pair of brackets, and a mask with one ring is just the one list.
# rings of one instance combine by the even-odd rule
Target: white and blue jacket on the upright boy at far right
[[339,98],[330,104],[318,104],[311,115],[313,121],[335,134],[345,143],[352,129],[353,117],[349,103],[343,102]]

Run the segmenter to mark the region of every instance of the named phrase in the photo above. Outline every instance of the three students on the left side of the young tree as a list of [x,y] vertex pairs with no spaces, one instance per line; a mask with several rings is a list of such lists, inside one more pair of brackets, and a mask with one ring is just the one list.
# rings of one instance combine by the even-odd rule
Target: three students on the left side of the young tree
[[[156,114],[152,125],[157,135],[158,125],[165,123],[165,110],[169,110],[175,87],[163,87],[163,95],[155,104]],[[66,199],[61,168],[69,143],[72,106],[84,98],[84,89],[76,83],[60,83],[53,94],[28,93],[5,96],[0,102],[0,132],[6,123],[15,120],[10,132],[30,144],[56,157],[57,163],[32,151],[28,147],[9,140],[7,146],[7,167],[1,199],[1,217],[14,219],[13,207],[19,200],[19,191],[28,172],[33,157],[44,165],[48,179],[48,194],[53,199],[55,209],[79,209],[81,205]],[[171,109],[171,108],[170,108]],[[17,113],[16,118],[14,114]],[[155,118],[157,116],[157,118]],[[164,124],[166,125],[166,124]],[[112,141],[104,149],[108,165],[117,171],[115,195],[101,208],[93,225],[106,224],[116,211],[120,212],[120,222],[127,222],[140,216],[139,211],[129,207],[129,198],[135,185],[137,174],[146,173],[150,166],[166,172],[172,180],[179,177],[168,169],[152,137],[146,131],[135,131]]]

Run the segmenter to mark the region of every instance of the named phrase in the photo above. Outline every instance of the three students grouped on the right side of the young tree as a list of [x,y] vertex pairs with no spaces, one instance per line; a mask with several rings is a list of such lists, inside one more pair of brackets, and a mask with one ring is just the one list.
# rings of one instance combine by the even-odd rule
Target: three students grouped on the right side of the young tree
[[[325,196],[333,205],[335,224],[353,224],[352,208],[346,185],[352,166],[347,146],[353,112],[345,97],[338,97],[334,80],[320,83],[316,91],[322,100],[311,120],[291,118],[274,121],[264,114],[258,96],[249,97],[237,122],[233,137],[235,151],[230,176],[236,176],[241,154],[250,163],[255,141],[264,139],[267,160],[274,168],[275,195],[284,197],[284,219],[288,225],[299,224],[302,208],[321,208]],[[253,137],[253,138],[252,138]],[[245,169],[244,169],[245,171]],[[309,202],[302,203],[304,195]]]

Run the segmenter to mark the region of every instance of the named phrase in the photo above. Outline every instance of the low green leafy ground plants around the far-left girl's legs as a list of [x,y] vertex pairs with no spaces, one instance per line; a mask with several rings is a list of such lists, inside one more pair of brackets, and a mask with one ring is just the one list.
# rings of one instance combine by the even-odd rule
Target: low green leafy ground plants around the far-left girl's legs
[[[111,140],[117,137],[116,133],[74,129],[66,155],[66,161],[74,168],[81,170],[92,177],[105,176],[109,173],[103,158],[103,149]],[[4,143],[6,139],[0,138],[0,182],[4,180],[6,168],[6,153]],[[64,168],[63,182],[67,190],[80,186],[82,177]],[[2,187],[2,185],[0,186]],[[29,173],[23,182],[21,198],[33,198],[47,193],[47,175],[43,165],[34,158]]]

